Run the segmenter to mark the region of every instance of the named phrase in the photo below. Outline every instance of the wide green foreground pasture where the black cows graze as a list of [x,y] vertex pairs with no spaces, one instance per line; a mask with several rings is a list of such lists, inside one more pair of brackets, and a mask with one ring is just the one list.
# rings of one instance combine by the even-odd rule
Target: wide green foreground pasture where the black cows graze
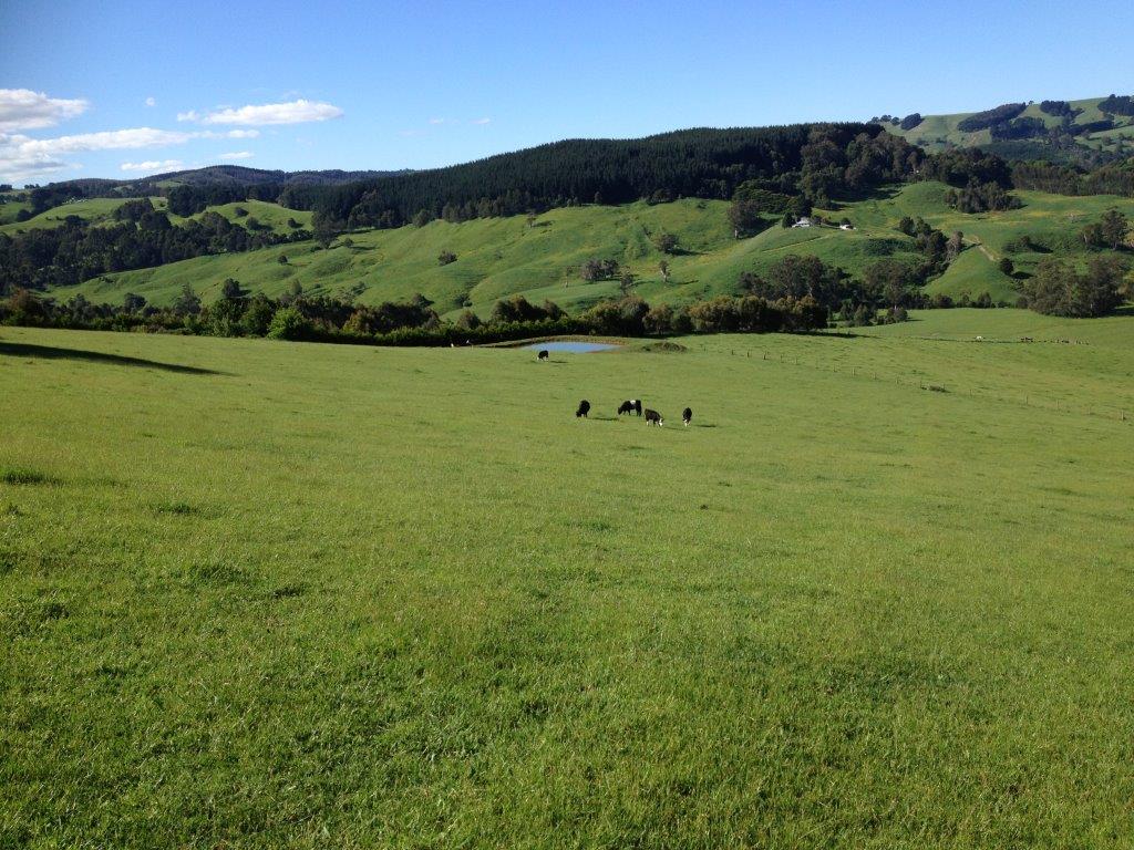
[[1129,847],[1132,330],[0,329],[0,847]]

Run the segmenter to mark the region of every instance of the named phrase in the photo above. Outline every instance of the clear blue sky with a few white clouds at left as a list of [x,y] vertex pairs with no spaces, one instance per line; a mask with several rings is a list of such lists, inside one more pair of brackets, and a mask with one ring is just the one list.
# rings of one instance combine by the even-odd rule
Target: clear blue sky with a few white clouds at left
[[0,2],[0,181],[1134,92],[1134,2]]

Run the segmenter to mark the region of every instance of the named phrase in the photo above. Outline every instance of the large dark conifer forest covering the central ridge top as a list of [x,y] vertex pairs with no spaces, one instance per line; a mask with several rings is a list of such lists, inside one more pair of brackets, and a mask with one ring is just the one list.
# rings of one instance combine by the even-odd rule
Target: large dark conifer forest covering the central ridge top
[[337,187],[286,188],[279,203],[315,226],[400,227],[584,203],[729,198],[746,181],[814,201],[907,179],[923,154],[877,125],[697,129],[642,139],[575,139],[433,171]]

